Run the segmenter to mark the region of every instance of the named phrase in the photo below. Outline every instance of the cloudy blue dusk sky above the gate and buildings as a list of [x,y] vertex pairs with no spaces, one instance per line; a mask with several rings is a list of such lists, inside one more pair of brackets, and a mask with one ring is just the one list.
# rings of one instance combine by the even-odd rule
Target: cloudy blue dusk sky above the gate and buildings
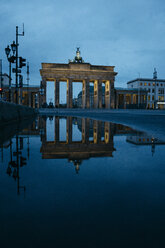
[[76,47],[85,62],[115,66],[116,87],[152,77],[154,67],[158,78],[165,78],[164,0],[0,0],[0,23],[6,73],[4,49],[15,40],[16,26],[21,33],[24,23],[19,56],[29,61],[30,84],[40,84],[42,62],[68,63]]

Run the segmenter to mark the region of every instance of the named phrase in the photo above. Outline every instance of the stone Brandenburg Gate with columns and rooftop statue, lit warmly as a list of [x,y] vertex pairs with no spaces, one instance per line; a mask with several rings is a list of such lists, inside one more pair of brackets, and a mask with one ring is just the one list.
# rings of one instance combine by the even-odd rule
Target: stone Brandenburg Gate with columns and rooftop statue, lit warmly
[[67,82],[67,108],[72,108],[72,83],[82,82],[82,108],[90,108],[90,83],[94,84],[94,108],[102,108],[102,84],[105,84],[105,108],[115,107],[114,81],[117,75],[114,66],[98,66],[85,63],[77,48],[76,56],[68,64],[42,63],[40,105],[46,103],[46,84],[55,84],[55,107],[59,107],[60,81]]

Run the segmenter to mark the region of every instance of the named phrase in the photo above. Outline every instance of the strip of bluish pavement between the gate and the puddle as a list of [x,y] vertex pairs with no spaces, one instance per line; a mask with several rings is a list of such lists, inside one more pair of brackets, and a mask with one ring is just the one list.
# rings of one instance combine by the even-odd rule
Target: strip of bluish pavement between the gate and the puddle
[[40,109],[40,114],[67,115],[110,121],[145,131],[165,141],[164,110],[84,110],[84,109]]

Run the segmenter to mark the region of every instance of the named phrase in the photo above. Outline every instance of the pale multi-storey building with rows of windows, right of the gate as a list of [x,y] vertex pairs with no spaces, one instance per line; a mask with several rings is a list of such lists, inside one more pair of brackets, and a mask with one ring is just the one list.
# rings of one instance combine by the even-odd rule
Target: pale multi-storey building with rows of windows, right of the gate
[[127,82],[129,89],[147,90],[147,108],[165,109],[165,79],[158,79],[156,69],[153,78],[137,78]]

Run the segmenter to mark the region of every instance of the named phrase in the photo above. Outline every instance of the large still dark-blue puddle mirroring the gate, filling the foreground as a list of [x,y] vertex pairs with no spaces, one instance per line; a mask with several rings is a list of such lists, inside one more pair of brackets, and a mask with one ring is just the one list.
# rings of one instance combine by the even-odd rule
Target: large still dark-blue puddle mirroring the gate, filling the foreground
[[71,139],[67,118],[47,118],[1,146],[2,247],[164,247],[163,142],[122,125],[72,122]]

